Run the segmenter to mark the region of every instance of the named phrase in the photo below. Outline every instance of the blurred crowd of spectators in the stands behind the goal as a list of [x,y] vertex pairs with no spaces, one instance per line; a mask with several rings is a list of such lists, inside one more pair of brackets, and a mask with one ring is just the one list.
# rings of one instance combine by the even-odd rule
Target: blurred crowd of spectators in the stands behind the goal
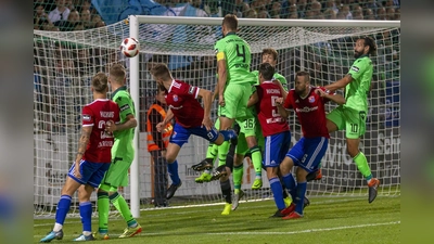
[[[400,20],[400,0],[155,0],[190,3],[200,16],[233,13],[248,18]],[[219,12],[219,5],[221,12]],[[34,29],[72,31],[105,26],[91,0],[34,0]]]

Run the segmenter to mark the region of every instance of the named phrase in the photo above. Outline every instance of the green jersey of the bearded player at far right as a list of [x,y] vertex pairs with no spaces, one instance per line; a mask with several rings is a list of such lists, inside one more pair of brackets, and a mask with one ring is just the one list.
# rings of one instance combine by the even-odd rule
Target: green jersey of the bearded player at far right
[[361,55],[357,59],[348,74],[353,81],[345,87],[346,103],[344,107],[368,112],[368,92],[371,87],[373,65],[371,59]]

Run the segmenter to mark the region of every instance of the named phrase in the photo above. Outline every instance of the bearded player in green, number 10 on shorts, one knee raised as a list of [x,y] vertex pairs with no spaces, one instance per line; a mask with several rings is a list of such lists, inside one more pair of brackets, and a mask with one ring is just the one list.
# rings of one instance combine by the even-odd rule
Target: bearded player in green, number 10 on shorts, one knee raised
[[324,86],[327,90],[335,91],[345,88],[346,103],[337,106],[327,115],[329,132],[345,129],[347,152],[356,163],[357,168],[365,177],[369,187],[368,202],[376,197],[380,180],[372,177],[368,160],[359,150],[360,137],[365,134],[368,113],[368,92],[371,88],[373,65],[369,55],[376,53],[375,41],[371,37],[357,39],[354,47],[356,61],[344,78]]

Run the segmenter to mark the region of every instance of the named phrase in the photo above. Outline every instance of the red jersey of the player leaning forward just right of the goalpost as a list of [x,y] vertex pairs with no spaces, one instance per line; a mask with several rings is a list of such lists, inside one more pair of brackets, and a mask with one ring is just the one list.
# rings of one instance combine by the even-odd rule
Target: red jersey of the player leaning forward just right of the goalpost
[[204,108],[196,100],[199,90],[197,87],[174,79],[167,91],[166,103],[176,123],[184,128],[202,126]]

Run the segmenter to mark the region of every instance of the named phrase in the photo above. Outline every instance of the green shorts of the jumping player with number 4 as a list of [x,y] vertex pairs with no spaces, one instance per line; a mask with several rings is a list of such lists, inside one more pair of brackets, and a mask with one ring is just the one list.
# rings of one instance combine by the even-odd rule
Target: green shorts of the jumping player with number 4
[[225,106],[218,106],[220,116],[243,119],[247,116],[247,102],[252,94],[250,84],[229,84],[225,88]]

